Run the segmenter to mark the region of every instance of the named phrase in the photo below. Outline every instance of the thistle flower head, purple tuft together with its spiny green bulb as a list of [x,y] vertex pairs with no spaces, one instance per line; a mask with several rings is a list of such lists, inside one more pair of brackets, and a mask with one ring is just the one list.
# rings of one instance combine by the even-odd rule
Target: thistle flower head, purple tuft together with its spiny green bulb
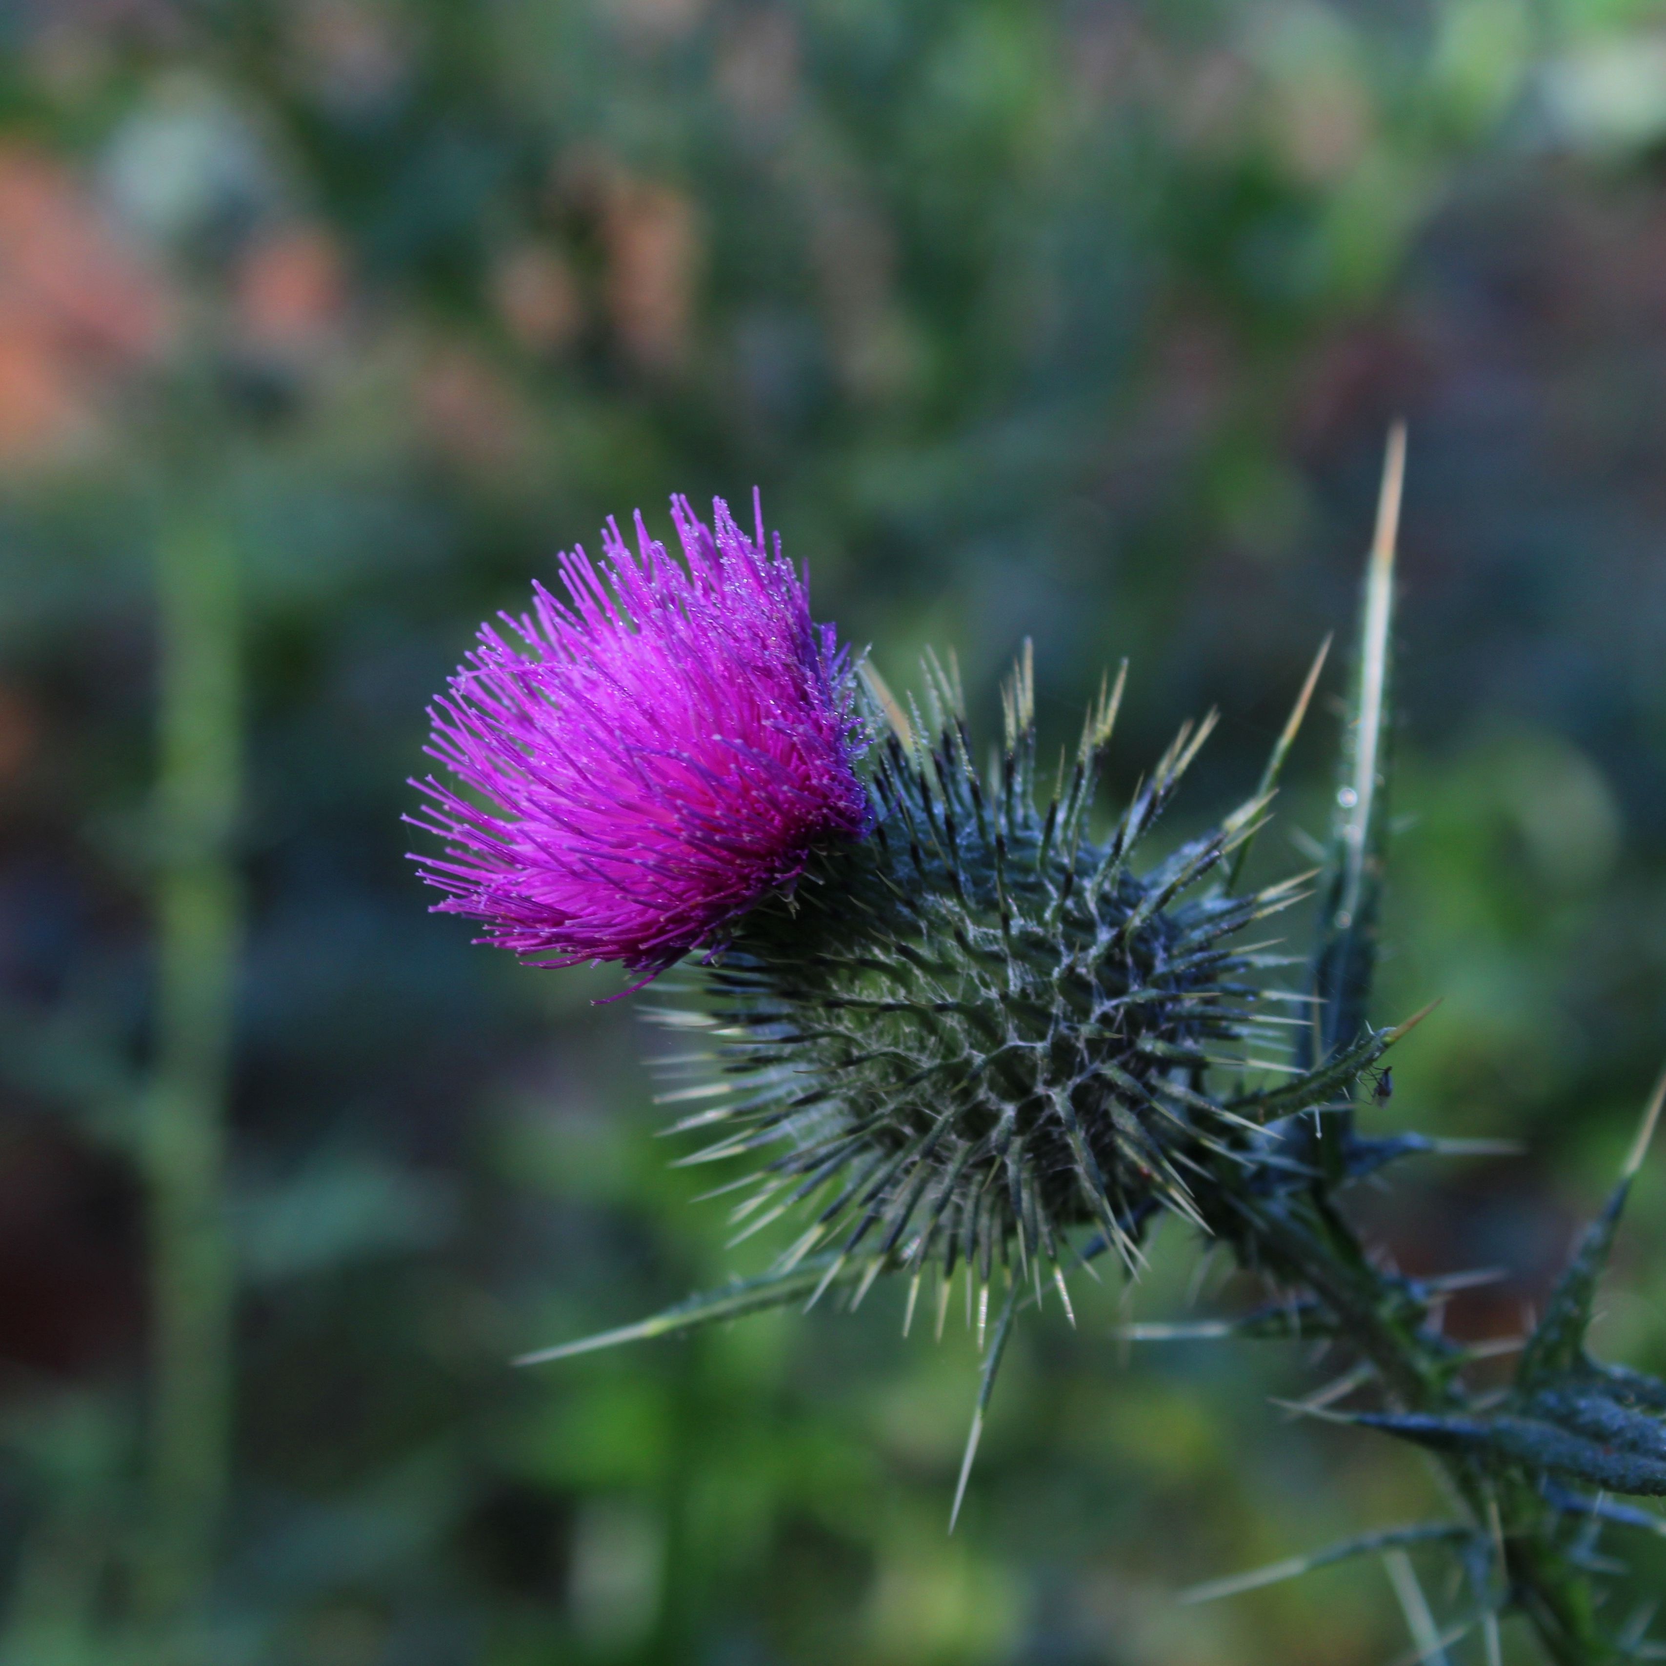
[[[671,513],[686,566],[640,518],[636,555],[610,525],[610,575],[563,556],[570,605],[536,588],[513,640],[483,628],[436,701],[430,753],[486,800],[418,783],[420,825],[448,846],[416,858],[438,908],[541,965],[651,978],[705,951],[693,1008],[658,1016],[711,1045],[671,1061],[693,1081],[665,1098],[700,1101],[681,1128],[720,1133],[690,1161],[753,1161],[743,1236],[811,1216],[776,1268],[791,1288],[903,1271],[915,1293],[933,1276],[941,1303],[965,1266],[981,1331],[996,1263],[1008,1313],[1020,1268],[1038,1293],[1045,1269],[1068,1308],[1066,1268],[1105,1250],[1136,1264],[1165,1210],[1230,1230],[1223,1186],[1266,1171],[1268,1126],[1346,1095],[1388,1045],[1366,1028],[1298,1058],[1311,996],[1264,988],[1283,961],[1231,946],[1299,895],[1299,880],[1238,893],[1240,863],[1211,881],[1276,765],[1143,866],[1213,716],[1095,838],[1121,676],[1048,793],[1026,650],[985,775],[955,675],[928,663],[926,720],[870,671],[858,711],[761,520],[746,538],[721,503],[715,533],[681,498]],[[1218,1081],[1268,1060],[1273,1086]]]

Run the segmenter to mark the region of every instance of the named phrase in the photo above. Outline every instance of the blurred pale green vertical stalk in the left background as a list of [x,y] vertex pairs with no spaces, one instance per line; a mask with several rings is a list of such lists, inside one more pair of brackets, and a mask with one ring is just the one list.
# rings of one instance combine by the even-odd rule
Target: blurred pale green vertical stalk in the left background
[[243,898],[237,551],[212,500],[175,490],[157,538],[157,1008],[145,1105],[150,1521],[140,1608],[158,1629],[215,1564],[232,1426],[233,1254],[225,1116]]

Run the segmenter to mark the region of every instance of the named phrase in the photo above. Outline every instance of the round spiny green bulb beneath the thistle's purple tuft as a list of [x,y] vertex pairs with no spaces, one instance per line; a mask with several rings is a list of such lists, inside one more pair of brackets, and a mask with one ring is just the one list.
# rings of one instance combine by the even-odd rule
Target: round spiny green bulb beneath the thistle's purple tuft
[[[958,680],[935,663],[926,675],[935,743],[918,710],[905,716],[870,676],[885,731],[870,836],[823,850],[791,900],[748,915],[703,975],[696,1010],[655,1016],[713,1043],[663,1061],[693,1076],[665,1100],[705,1106],[676,1126],[720,1131],[691,1161],[776,1153],[736,1183],[751,1188],[735,1210],[741,1236],[806,1210],[778,1271],[818,1251],[816,1293],[855,1278],[858,1299],[878,1273],[906,1271],[911,1316],[936,1269],[940,1324],[965,1261],[981,1329],[996,1261],[1016,1259],[1038,1291],[1046,1268],[1068,1308],[1071,1259],[1111,1246],[1135,1263],[1163,1208],[1211,1225],[1223,1165],[1241,1181],[1245,1163],[1266,1163],[1266,1120],[1346,1093],[1364,1053],[1291,1068],[1286,1045],[1308,998],[1246,981],[1284,960],[1228,941],[1294,901],[1306,876],[1250,895],[1196,890],[1253,836],[1268,793],[1156,866],[1135,866],[1213,716],[1181,730],[1095,840],[1121,675],[1101,688],[1045,806],[1028,650],[985,778]],[[1364,1051],[1379,1051],[1374,1038]],[[1263,1061],[1281,1085],[1211,1091],[1223,1070],[1241,1088]]]

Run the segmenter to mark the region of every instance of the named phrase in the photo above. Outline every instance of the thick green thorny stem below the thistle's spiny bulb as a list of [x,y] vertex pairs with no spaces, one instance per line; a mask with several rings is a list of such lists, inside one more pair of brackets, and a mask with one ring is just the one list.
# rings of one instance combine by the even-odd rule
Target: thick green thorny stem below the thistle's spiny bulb
[[[1323,1191],[1240,1208],[1243,1218],[1233,1236],[1245,1258],[1281,1283],[1311,1289],[1346,1341],[1376,1368],[1399,1409],[1466,1408],[1456,1349],[1416,1309],[1408,1309],[1404,1288],[1371,1263]],[[1461,1454],[1441,1453],[1438,1461],[1478,1533],[1491,1531],[1496,1508],[1511,1596],[1556,1666],[1609,1666],[1623,1659],[1599,1633],[1589,1578],[1556,1543],[1554,1513],[1538,1493]]]

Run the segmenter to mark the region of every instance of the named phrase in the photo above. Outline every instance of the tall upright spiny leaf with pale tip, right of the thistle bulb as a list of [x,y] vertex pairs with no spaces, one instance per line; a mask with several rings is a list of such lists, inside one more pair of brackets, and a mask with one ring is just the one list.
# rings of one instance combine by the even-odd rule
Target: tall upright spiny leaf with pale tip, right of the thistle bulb
[[1298,1055],[1303,1068],[1328,1060],[1359,1035],[1376,971],[1376,920],[1388,846],[1394,540],[1404,466],[1406,430],[1403,423],[1394,423],[1388,435],[1376,536],[1366,566],[1354,691],[1343,731],[1329,873],[1319,900],[1313,955],[1313,993],[1324,1005],[1319,1008],[1316,1038],[1308,1038]]

